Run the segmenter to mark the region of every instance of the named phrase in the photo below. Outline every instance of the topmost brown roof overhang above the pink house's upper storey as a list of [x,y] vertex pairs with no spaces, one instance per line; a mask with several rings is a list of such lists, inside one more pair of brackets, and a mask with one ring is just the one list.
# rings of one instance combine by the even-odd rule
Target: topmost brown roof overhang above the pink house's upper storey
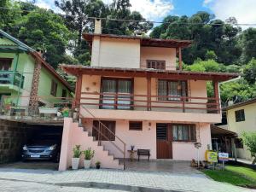
[[192,44],[189,40],[177,40],[177,39],[159,39],[159,38],[145,38],[139,36],[118,36],[110,34],[95,34],[84,33],[84,39],[91,45],[94,37],[100,38],[115,38],[115,39],[127,39],[127,40],[140,40],[143,47],[165,47],[165,48],[185,48]]

